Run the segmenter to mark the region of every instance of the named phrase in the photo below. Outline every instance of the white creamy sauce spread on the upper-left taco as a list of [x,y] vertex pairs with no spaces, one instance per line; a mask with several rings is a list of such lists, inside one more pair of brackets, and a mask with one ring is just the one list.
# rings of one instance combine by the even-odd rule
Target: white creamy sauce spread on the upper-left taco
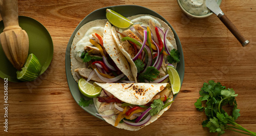
[[83,38],[79,40],[75,45],[75,58],[77,61],[82,62],[81,54],[84,51],[84,47],[86,46],[92,46],[92,43],[90,42],[90,39],[92,39],[92,34],[97,33],[99,35],[103,35],[104,28],[103,27],[92,27],[87,30],[87,32],[84,34]]

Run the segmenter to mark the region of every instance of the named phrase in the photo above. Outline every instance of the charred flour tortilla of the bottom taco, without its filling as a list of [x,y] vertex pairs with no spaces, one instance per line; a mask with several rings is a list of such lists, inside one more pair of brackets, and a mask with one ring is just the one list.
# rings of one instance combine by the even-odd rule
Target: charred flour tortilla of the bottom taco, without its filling
[[[151,84],[151,83],[96,83],[96,84],[101,86],[108,92],[110,92],[112,95],[117,97],[119,100],[127,102],[127,103],[131,103],[131,104],[136,104],[136,105],[144,105],[144,104],[148,103],[149,101],[147,101],[147,100],[151,100],[158,92],[160,92],[159,90],[162,90],[166,86],[167,87],[169,86],[168,83],[156,83],[156,84]],[[131,86],[131,87],[129,87],[129,86]],[[133,86],[138,86],[137,87],[138,89],[140,88],[143,90],[142,94],[143,93],[145,93],[145,94],[144,95],[136,94],[136,90],[131,89],[131,88],[133,88]],[[127,88],[127,87],[129,87],[129,88]],[[139,97],[139,99],[137,99],[136,97]],[[172,92],[170,93],[168,98],[170,98],[170,99],[167,102],[173,101],[173,93]],[[98,101],[98,98],[94,98],[93,101],[94,101],[95,108],[98,111],[98,107],[96,104]],[[151,124],[152,122],[156,121],[169,107],[170,107],[170,105],[165,107],[164,109],[162,109],[159,112],[159,114],[152,116],[150,121],[148,121],[146,124],[144,124],[142,126],[131,126],[131,125],[127,125],[125,123],[118,123],[118,125],[116,127],[130,130],[130,131],[137,131],[137,130],[145,127],[146,125]],[[104,115],[101,112],[99,112],[99,114]],[[102,117],[102,118],[109,124],[111,124],[113,126],[115,125],[115,120],[113,120],[111,117]]]

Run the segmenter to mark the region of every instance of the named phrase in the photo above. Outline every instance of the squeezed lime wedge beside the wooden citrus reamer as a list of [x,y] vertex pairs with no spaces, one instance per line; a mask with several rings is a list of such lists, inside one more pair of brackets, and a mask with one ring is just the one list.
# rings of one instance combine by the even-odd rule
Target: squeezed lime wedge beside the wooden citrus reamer
[[34,54],[30,54],[22,68],[22,71],[17,71],[17,79],[22,81],[35,80],[42,70],[41,63]]

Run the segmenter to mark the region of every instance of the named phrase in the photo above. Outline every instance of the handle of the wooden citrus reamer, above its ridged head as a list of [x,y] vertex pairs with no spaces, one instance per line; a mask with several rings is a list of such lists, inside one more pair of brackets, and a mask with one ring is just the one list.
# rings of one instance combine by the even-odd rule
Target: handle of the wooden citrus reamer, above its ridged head
[[20,30],[18,25],[18,1],[0,0],[0,13],[4,21],[5,31]]

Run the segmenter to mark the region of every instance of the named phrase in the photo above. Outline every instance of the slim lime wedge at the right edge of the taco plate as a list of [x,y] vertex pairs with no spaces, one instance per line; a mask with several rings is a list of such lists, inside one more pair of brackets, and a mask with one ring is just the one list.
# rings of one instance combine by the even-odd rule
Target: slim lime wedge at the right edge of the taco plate
[[172,66],[167,66],[167,72],[169,74],[169,80],[170,85],[172,86],[173,94],[178,94],[180,92],[180,76]]

